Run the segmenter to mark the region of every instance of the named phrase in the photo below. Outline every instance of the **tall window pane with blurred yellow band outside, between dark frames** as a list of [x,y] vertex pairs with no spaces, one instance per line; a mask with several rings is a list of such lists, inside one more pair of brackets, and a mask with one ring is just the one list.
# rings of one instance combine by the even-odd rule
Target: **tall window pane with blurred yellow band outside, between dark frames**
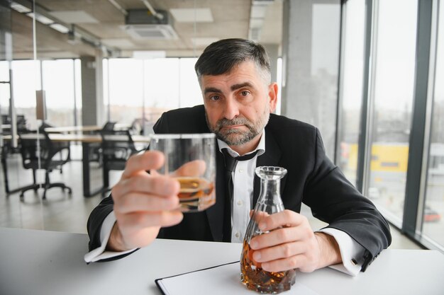
[[370,127],[372,160],[366,193],[384,209],[386,216],[392,216],[391,221],[400,222],[404,214],[414,96],[418,1],[378,2],[374,113]]

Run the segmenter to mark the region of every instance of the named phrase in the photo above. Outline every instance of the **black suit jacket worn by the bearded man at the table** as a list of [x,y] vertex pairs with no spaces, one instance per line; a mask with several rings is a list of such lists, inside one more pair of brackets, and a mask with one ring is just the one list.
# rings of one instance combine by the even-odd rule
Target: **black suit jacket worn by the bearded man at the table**
[[[155,124],[156,133],[207,133],[204,106],[165,112]],[[340,169],[327,158],[316,127],[279,115],[270,115],[265,127],[265,154],[257,166],[287,169],[281,182],[284,207],[299,212],[301,203],[311,208],[313,216],[328,227],[348,233],[366,251],[365,267],[391,243],[389,225],[369,199],[363,197]],[[195,241],[223,241],[225,194],[223,155],[217,152],[216,204],[205,212],[184,214],[180,224],[161,229],[158,238]],[[253,206],[259,195],[255,177]],[[111,212],[111,196],[104,199],[89,217],[90,249],[99,247],[101,223]],[[228,209],[230,209],[228,207]]]

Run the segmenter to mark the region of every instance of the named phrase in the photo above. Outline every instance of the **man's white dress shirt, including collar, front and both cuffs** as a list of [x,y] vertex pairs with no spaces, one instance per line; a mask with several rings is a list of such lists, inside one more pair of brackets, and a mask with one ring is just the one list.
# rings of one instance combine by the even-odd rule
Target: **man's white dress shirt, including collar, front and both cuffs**
[[[243,156],[239,155],[236,151],[233,151],[225,142],[218,139],[219,151],[222,149],[228,149],[228,153],[231,156]],[[255,151],[257,151],[256,156],[247,161],[238,161],[235,170],[233,171],[233,212],[231,215],[231,242],[232,243],[243,243],[243,238],[245,236],[245,231],[247,230],[248,222],[250,221],[250,210],[252,209],[252,195],[253,195],[253,183],[255,178],[255,168],[257,157],[265,153],[265,130],[262,132],[262,137],[260,138],[259,144],[257,145]],[[255,152],[252,151],[251,153]],[[250,153],[248,153],[250,154]],[[238,184],[238,185],[236,185]],[[250,185],[243,185],[250,184]],[[111,234],[111,229],[113,224],[116,222],[116,216],[111,212],[104,223],[101,226],[100,238],[101,246],[91,252],[84,255],[84,260],[86,262],[95,262],[98,260],[112,258],[114,256],[129,253],[135,249],[127,250],[124,252],[111,252],[105,251],[106,243],[108,243],[109,236]],[[330,267],[339,270],[340,272],[345,272],[356,276],[362,267],[362,256],[364,255],[365,248],[357,243],[353,238],[351,238],[344,231],[338,229],[331,229],[326,227],[325,229],[319,230],[323,233],[327,233],[335,238],[335,241],[339,245],[340,255],[343,263],[338,265],[331,265]]]

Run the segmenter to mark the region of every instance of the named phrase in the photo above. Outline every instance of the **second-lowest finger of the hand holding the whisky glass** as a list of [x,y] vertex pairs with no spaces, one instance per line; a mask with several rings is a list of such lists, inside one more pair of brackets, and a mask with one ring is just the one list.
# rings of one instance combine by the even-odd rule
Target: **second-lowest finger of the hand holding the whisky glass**
[[174,210],[179,207],[177,196],[160,197],[140,192],[131,192],[124,198],[117,199],[114,203],[114,211],[122,214],[130,212],[158,212]]

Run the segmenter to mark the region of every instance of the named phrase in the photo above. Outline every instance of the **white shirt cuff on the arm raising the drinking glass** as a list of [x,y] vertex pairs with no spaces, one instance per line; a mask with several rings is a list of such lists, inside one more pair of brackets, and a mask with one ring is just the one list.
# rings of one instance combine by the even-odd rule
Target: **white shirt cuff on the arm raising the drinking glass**
[[115,223],[116,223],[116,215],[114,215],[114,212],[111,211],[111,213],[108,214],[108,216],[106,216],[104,223],[101,224],[100,247],[91,250],[89,253],[85,254],[84,255],[85,262],[96,262],[102,259],[113,258],[119,255],[130,253],[136,249],[134,248],[123,252],[105,251],[106,243],[108,243],[109,236],[111,235],[111,230],[113,229]]

